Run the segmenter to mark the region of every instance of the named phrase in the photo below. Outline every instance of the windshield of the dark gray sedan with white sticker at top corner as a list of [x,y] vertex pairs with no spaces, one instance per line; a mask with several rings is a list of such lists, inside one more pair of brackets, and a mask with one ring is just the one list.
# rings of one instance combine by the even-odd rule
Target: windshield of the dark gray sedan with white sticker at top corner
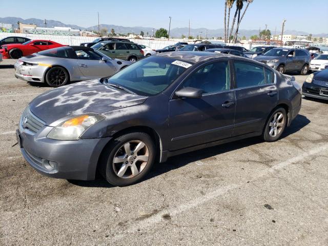
[[172,58],[151,56],[117,72],[106,83],[138,95],[152,96],[165,90],[190,66]]

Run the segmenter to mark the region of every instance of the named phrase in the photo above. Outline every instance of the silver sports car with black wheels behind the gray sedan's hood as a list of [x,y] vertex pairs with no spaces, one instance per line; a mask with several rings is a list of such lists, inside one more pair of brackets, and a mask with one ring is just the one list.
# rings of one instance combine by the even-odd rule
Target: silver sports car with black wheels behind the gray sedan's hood
[[69,81],[108,77],[131,64],[84,46],[65,46],[19,58],[16,78],[59,87]]

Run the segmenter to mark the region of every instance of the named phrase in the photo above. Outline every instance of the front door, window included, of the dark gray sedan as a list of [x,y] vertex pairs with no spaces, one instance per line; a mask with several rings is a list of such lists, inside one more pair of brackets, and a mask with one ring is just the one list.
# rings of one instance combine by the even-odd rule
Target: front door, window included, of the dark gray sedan
[[170,151],[231,137],[235,93],[231,90],[229,61],[202,66],[178,88],[203,90],[201,98],[176,98],[169,102]]

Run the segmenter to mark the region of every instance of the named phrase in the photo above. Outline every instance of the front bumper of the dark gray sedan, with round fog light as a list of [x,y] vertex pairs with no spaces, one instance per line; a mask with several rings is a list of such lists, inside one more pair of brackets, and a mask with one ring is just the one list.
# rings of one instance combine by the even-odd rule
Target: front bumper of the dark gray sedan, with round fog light
[[51,129],[44,126],[33,133],[19,124],[17,141],[27,162],[49,177],[94,179],[100,153],[111,138],[54,140],[46,137]]

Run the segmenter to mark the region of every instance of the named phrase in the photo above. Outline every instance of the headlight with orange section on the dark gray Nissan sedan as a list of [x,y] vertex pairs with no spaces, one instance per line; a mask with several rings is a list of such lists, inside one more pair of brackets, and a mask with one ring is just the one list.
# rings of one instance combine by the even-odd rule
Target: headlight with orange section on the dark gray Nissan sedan
[[47,137],[56,140],[78,140],[89,127],[104,118],[98,114],[85,114],[71,118],[52,129]]

